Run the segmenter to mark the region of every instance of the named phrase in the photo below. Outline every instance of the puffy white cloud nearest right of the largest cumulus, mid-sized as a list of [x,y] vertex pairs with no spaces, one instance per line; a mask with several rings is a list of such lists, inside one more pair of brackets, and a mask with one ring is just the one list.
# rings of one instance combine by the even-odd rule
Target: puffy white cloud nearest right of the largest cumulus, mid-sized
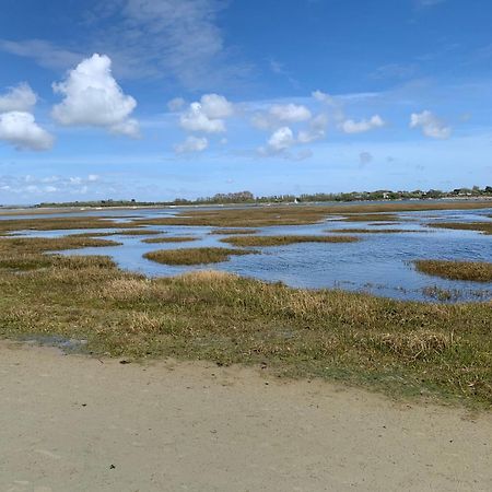
[[187,131],[221,133],[225,131],[225,118],[232,116],[234,107],[224,96],[204,94],[200,102],[191,103],[179,118]]

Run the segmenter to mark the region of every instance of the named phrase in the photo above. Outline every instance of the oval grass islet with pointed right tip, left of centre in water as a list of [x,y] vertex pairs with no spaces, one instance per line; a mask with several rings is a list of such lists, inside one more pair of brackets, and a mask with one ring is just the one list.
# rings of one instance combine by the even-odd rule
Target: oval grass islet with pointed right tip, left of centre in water
[[227,261],[231,255],[249,255],[256,251],[227,248],[161,249],[143,255],[145,258],[165,265],[204,265]]

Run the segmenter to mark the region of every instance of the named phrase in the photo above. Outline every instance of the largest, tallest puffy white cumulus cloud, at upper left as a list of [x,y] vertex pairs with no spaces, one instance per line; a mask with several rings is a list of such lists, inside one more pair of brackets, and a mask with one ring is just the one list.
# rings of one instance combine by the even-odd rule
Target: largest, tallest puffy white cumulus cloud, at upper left
[[94,54],[71,70],[65,82],[54,84],[65,99],[52,108],[52,117],[66,126],[93,126],[113,133],[138,137],[139,124],[130,118],[137,106],[125,95],[112,74],[112,60]]

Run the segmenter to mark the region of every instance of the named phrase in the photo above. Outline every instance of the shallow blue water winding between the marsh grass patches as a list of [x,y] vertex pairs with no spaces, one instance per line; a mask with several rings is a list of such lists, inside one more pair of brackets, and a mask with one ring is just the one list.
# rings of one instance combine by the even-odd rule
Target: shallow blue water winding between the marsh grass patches
[[[139,215],[156,218],[175,214],[183,209],[147,209],[102,211],[101,214],[117,215],[121,220]],[[105,212],[105,213],[103,213]],[[484,210],[421,211],[398,213],[399,221],[385,225],[371,222],[345,222],[333,220],[311,225],[270,226],[259,229],[258,234],[327,234],[335,229],[398,229],[408,233],[355,234],[358,243],[303,243],[279,247],[256,248],[261,255],[232,256],[230,261],[197,267],[165,266],[143,258],[143,254],[156,249],[176,249],[201,246],[223,246],[212,235],[216,227],[206,226],[149,226],[168,236],[192,235],[198,241],[181,244],[145,244],[145,236],[110,236],[121,246],[84,248],[63,251],[68,255],[108,255],[120,268],[150,277],[175,276],[190,270],[216,269],[253,277],[266,281],[282,281],[298,288],[340,288],[350,291],[371,292],[394,298],[420,301],[482,301],[492,298],[492,283],[464,282],[430,277],[415,271],[412,260],[449,259],[492,261],[492,235],[475,231],[432,229],[433,222],[491,221],[492,207]],[[87,215],[99,212],[87,212]],[[81,214],[78,213],[80,216]],[[40,215],[32,215],[36,218]],[[54,215],[50,215],[54,216]],[[63,216],[67,216],[63,214]],[[82,231],[26,231],[17,234],[37,237],[57,237],[79,232],[114,232],[112,230]],[[152,237],[159,237],[152,235]],[[445,297],[440,298],[443,291]]]

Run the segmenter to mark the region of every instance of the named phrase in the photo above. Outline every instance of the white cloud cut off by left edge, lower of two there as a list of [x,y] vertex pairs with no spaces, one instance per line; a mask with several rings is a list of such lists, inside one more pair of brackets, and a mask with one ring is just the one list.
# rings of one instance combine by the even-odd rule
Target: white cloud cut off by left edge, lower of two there
[[25,112],[0,114],[0,140],[19,150],[42,151],[54,144],[54,138],[36,124],[31,113]]

